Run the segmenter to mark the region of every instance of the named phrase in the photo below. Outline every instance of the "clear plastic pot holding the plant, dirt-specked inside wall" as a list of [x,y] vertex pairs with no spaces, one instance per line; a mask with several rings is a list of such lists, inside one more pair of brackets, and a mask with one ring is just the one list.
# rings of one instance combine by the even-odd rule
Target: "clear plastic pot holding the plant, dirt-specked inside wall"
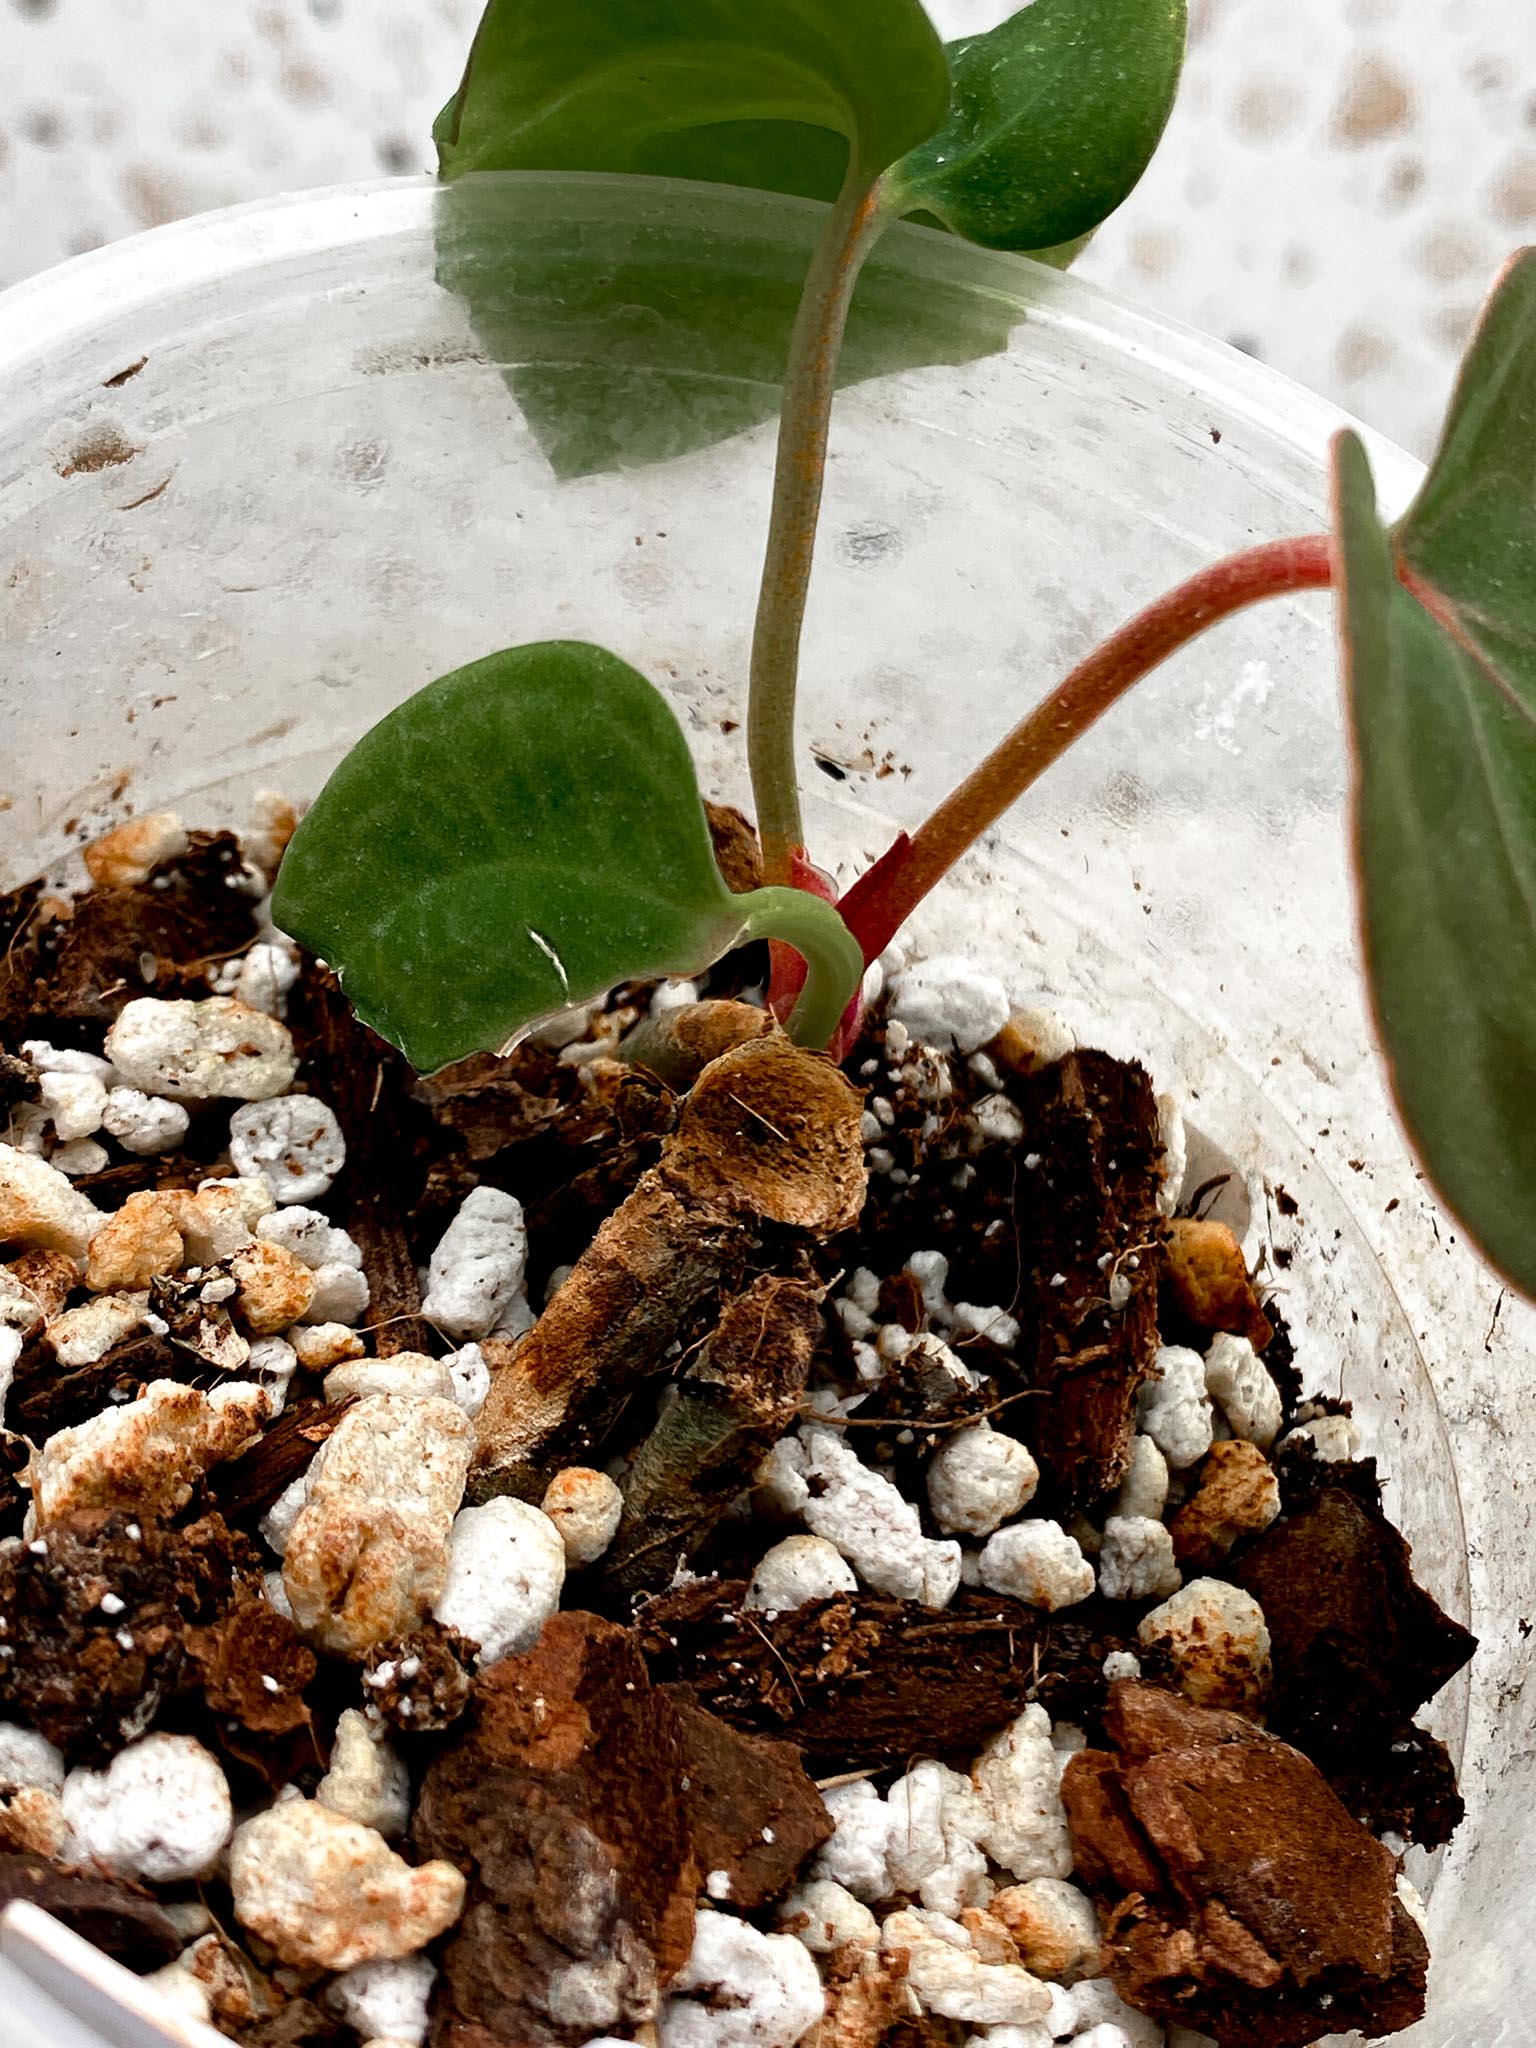
[[[446,201],[461,248],[512,262],[471,324],[436,283],[434,205],[395,182],[233,209],[0,299],[0,883],[129,809],[213,823],[260,786],[309,795],[408,692],[526,639],[639,664],[707,786],[745,799],[772,426],[666,451],[768,410],[817,209],[489,180]],[[723,346],[696,313],[735,291]],[[1337,424],[1227,348],[918,227],[860,307],[854,365],[881,375],[838,408],[803,692],[811,844],[844,866],[1135,606],[1317,530]],[[940,367],[893,367],[913,319]],[[547,451],[580,469],[594,412],[623,465],[557,475]],[[1415,465],[1374,455],[1401,504]],[[1235,1169],[1223,1200],[1303,1368],[1354,1399],[1421,1577],[1483,1634],[1430,1716],[1468,1821],[1417,1864],[1436,1962],[1411,2040],[1493,2048],[1536,1991],[1516,1630],[1536,1415],[1497,1370],[1530,1325],[1505,1305],[1489,1333],[1495,1288],[1391,1122],[1343,793],[1329,602],[1247,612],[1108,717],[913,940],[983,958],[1184,1102],[1192,1174]]]

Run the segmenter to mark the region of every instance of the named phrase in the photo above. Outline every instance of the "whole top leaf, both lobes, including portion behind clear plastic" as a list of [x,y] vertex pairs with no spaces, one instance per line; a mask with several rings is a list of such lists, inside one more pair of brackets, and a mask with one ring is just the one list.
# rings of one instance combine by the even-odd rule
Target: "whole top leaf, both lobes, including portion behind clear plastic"
[[[434,129],[438,279],[506,365],[559,475],[676,457],[772,418],[766,393],[784,371],[797,297],[811,334],[829,334],[885,221],[915,215],[1065,262],[1145,170],[1182,55],[1184,0],[1034,0],[950,45],[918,0],[573,0],[543,16],[526,0],[492,0]],[[588,209],[573,293],[571,229],[551,229],[553,250],[539,233],[553,195],[498,193],[494,176],[549,170],[692,178],[836,207],[803,295],[799,276],[776,289],[778,238],[801,227],[784,209],[766,250],[750,207],[735,221],[715,211],[694,248],[674,236],[657,248],[643,223]],[[721,262],[731,238],[733,260]],[[858,295],[852,346],[827,350],[844,383],[1008,342],[1001,301],[983,319],[969,295],[946,319],[942,305],[918,313],[905,297],[897,326],[881,324],[874,291]],[[655,362],[604,360],[604,336],[637,322],[659,338]],[[678,332],[682,381],[666,356]]]

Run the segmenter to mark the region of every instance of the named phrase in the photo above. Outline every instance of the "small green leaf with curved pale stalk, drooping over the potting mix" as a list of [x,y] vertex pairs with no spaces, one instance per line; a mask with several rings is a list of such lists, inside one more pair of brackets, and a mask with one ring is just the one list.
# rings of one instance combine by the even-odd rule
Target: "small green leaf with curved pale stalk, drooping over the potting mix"
[[299,825],[272,918],[422,1073],[745,936],[811,954],[807,1040],[862,973],[829,905],[731,895],[666,698],[582,641],[485,655],[381,719]]

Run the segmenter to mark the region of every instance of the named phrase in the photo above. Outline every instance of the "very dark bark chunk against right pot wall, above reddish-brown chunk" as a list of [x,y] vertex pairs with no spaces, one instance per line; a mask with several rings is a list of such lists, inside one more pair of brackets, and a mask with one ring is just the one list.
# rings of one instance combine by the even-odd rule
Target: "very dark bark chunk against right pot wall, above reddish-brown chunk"
[[1380,1509],[1317,1485],[1239,1559],[1231,1577],[1264,1608],[1276,1733],[1411,1839],[1444,1841],[1460,1819],[1448,1759],[1413,1714],[1468,1661],[1477,1638],[1413,1583],[1413,1554]]

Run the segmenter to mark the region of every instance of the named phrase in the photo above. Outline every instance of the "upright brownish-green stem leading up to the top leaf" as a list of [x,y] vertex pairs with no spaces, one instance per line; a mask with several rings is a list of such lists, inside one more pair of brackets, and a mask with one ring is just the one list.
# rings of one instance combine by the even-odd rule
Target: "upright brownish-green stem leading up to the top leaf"
[[805,842],[795,772],[795,686],[827,461],[838,352],[858,272],[885,225],[881,180],[848,160],[848,176],[805,274],[784,365],[768,545],[752,631],[748,760],[764,877],[784,883]]

